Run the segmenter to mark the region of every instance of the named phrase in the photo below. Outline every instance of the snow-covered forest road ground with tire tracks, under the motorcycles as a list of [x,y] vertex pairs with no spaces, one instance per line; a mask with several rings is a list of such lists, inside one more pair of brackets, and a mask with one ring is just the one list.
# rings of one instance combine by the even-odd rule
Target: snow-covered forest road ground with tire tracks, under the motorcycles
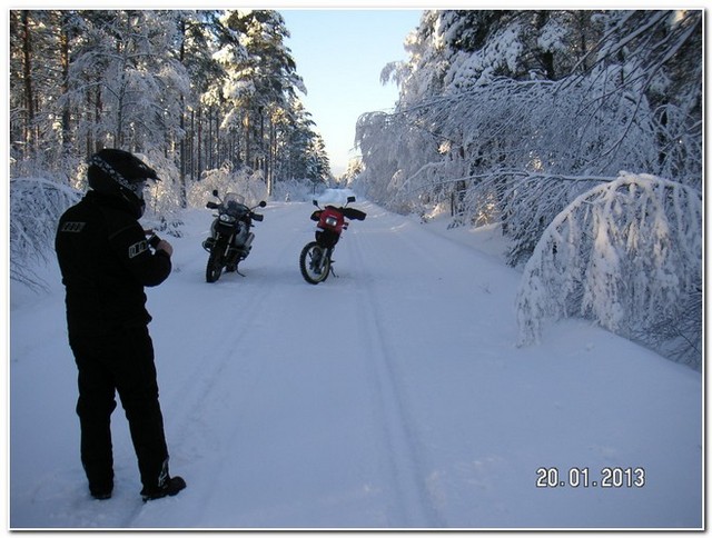
[[[490,238],[356,207],[368,217],[318,286],[297,265],[309,205],[269,203],[246,277],[216,283],[210,211],[186,213],[174,273],[148,291],[171,471],[188,482],[175,498],[140,501],[118,410],[115,496],[90,499],[62,290],[13,293],[10,526],[702,525],[698,372],[582,321],[518,349],[520,273],[483,252]],[[540,468],[586,468],[596,486],[537,487]],[[607,468],[645,484],[601,487]]]

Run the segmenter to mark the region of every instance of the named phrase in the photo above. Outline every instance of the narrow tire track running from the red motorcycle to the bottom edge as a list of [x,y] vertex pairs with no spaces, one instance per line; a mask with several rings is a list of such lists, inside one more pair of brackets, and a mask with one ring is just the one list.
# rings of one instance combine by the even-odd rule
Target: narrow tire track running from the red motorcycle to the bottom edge
[[[370,205],[368,213],[372,221],[375,217],[374,213],[376,213],[374,209],[376,207]],[[380,230],[379,233],[383,235],[385,231]],[[382,416],[379,419],[383,421],[383,441],[386,445],[387,465],[390,468],[392,482],[397,497],[397,509],[403,521],[397,526],[409,528],[445,527],[444,518],[439,514],[426,484],[423,450],[395,363],[397,353],[385,330],[387,319],[379,310],[378,292],[370,276],[370,263],[377,263],[377,260],[364,253],[363,238],[358,231],[349,239],[348,250],[355,257],[354,263],[363,271],[359,276],[363,281],[356,283],[359,290],[364,291],[357,293],[362,313],[358,319],[360,330],[365,333],[363,356],[368,359],[367,366],[370,369],[376,398],[380,405]]]

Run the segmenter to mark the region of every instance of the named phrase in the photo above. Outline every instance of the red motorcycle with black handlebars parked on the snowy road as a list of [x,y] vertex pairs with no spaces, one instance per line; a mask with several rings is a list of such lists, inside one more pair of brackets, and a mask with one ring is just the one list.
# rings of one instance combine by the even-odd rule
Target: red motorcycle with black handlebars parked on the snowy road
[[332,255],[334,248],[342,237],[342,231],[348,228],[348,220],[364,220],[366,213],[359,209],[348,208],[356,198],[349,196],[346,203],[342,207],[326,206],[324,209],[319,207],[319,202],[314,200],[314,205],[318,208],[312,213],[310,219],[316,221],[316,241],[308,242],[301,249],[299,255],[299,269],[301,276],[309,283],[324,282],[334,272],[332,269]]

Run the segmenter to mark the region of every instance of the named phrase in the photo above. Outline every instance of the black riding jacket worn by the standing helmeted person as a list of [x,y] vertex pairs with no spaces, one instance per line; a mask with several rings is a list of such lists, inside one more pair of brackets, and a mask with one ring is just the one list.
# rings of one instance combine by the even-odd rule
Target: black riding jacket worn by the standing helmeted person
[[55,247],[70,335],[105,335],[150,322],[144,287],[168,278],[170,257],[151,251],[123,200],[87,192],[61,216]]

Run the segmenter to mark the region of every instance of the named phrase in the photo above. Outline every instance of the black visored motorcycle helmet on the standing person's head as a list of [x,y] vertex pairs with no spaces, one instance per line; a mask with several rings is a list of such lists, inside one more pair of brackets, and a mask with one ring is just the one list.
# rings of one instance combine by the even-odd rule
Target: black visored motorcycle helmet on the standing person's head
[[149,179],[159,180],[156,170],[138,157],[120,149],[102,149],[89,159],[89,187],[102,195],[120,197],[144,215],[144,188]]

